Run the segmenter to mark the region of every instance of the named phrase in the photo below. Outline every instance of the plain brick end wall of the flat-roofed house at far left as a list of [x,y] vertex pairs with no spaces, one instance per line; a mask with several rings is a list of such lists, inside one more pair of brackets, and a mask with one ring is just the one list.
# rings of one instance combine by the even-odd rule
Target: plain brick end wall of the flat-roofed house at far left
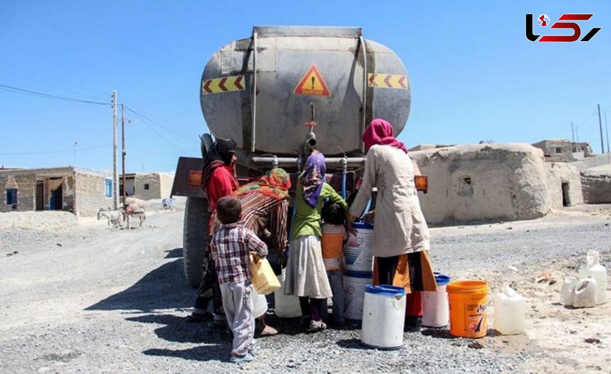
[[75,214],[95,216],[100,208],[112,207],[112,197],[104,196],[103,175],[75,173]]

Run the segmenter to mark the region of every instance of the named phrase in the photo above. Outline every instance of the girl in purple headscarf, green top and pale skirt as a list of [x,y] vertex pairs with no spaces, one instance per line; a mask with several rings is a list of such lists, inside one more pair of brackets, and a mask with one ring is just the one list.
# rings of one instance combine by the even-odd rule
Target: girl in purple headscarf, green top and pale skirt
[[299,175],[284,283],[285,295],[299,296],[303,317],[310,317],[310,331],[326,329],[323,318],[326,317],[327,298],[333,295],[320,246],[320,213],[324,199],[328,197],[346,209],[342,197],[324,182],[325,172],[324,155],[315,153],[307,158],[305,171]]

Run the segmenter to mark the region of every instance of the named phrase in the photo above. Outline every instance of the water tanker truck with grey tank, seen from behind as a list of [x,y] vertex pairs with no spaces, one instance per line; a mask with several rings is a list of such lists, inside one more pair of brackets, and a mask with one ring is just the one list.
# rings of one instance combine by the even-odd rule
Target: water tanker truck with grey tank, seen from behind
[[172,196],[187,197],[183,261],[189,285],[199,285],[208,240],[201,171],[213,136],[237,142],[240,180],[272,167],[296,175],[317,149],[327,158],[327,179],[345,194],[362,172],[365,126],[381,117],[396,136],[410,103],[403,63],[390,48],[364,39],[360,28],[255,26],[251,37],[216,51],[200,85],[211,134],[200,136],[202,158],[179,158],[172,186]]

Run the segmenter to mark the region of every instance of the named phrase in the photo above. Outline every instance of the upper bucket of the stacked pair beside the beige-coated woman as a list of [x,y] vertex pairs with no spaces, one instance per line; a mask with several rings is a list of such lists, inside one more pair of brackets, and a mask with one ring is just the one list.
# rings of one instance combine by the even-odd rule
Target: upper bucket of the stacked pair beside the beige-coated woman
[[347,271],[373,271],[373,225],[354,222],[356,235],[350,234],[344,246]]

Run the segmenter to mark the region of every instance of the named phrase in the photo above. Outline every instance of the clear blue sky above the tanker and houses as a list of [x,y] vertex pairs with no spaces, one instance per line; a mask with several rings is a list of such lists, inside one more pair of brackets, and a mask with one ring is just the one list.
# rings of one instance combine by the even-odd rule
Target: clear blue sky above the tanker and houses
[[[611,111],[611,2],[464,3],[6,0],[0,84],[108,103],[116,89],[119,103],[155,121],[127,113],[128,172],[173,171],[178,156],[199,155],[199,84],[214,51],[255,24],[360,26],[408,70],[411,114],[399,136],[408,147],[571,138],[573,121],[601,152],[596,105]],[[587,43],[533,43],[525,13],[552,23],[595,13],[580,21],[582,35],[602,30]],[[0,165],[112,168],[109,106],[0,89],[0,128]]]

